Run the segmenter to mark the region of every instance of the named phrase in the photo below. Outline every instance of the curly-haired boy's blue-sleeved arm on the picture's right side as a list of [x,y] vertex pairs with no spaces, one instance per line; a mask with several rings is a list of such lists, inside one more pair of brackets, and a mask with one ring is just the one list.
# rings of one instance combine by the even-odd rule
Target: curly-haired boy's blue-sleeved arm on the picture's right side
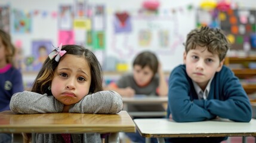
[[[227,75],[228,74],[228,75]],[[231,75],[230,75],[231,74]],[[223,91],[224,100],[208,100],[205,102],[206,110],[219,117],[234,120],[236,122],[249,122],[252,117],[251,104],[248,95],[243,90],[237,77],[230,71],[221,78],[220,89]]]

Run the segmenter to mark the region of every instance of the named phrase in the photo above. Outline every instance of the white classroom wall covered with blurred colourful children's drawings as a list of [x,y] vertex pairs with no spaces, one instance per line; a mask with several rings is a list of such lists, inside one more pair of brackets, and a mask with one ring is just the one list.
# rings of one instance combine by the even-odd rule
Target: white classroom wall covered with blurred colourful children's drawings
[[[5,23],[10,21],[5,29],[21,51],[17,57],[21,69],[33,66],[37,58],[33,56],[39,54],[33,54],[33,42],[46,41],[51,43],[50,49],[60,43],[85,46],[107,71],[131,70],[135,55],[149,50],[156,53],[164,71],[171,71],[183,63],[183,43],[187,33],[196,27],[200,1],[159,0],[156,11],[145,10],[144,1],[1,0],[0,13],[9,13],[0,17],[10,18],[4,18]],[[0,26],[6,25],[3,23],[0,20]],[[117,65],[122,68],[117,69]]]

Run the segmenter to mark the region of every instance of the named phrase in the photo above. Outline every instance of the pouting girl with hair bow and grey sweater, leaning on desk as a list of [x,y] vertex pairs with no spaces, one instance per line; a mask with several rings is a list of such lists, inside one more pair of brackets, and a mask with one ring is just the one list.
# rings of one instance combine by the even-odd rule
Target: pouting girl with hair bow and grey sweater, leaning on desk
[[[32,91],[14,94],[14,113],[99,113],[116,114],[122,98],[115,91],[103,91],[101,67],[95,55],[78,45],[61,45],[47,60],[33,83]],[[28,136],[30,140],[30,136]],[[101,142],[100,134],[36,133],[36,142]]]

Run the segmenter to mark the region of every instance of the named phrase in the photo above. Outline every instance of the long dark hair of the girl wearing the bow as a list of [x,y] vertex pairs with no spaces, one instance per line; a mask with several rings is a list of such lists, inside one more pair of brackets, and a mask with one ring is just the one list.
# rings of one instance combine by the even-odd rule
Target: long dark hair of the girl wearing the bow
[[[89,93],[103,91],[101,66],[97,58],[93,54],[93,52],[79,45],[63,45],[61,50],[67,51],[66,54],[75,55],[77,57],[84,57],[85,60],[87,60],[89,67],[91,69],[91,79],[92,79]],[[56,50],[54,49],[54,51]],[[51,91],[48,90],[48,88],[51,85],[51,81],[53,80],[53,77],[54,77],[54,70],[56,69],[57,66],[58,66],[58,62],[55,61],[54,58],[53,60],[51,60],[48,57],[44,61],[44,64],[33,83],[33,87],[32,87],[33,92],[37,92],[39,94],[47,93],[48,95],[51,95]]]

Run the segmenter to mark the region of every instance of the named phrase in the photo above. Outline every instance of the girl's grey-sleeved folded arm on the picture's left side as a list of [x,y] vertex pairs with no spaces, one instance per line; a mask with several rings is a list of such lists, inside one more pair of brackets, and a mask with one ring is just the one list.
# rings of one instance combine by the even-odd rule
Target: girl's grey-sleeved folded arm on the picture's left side
[[10,109],[19,114],[57,113],[63,110],[63,104],[47,94],[23,91],[11,97]]

